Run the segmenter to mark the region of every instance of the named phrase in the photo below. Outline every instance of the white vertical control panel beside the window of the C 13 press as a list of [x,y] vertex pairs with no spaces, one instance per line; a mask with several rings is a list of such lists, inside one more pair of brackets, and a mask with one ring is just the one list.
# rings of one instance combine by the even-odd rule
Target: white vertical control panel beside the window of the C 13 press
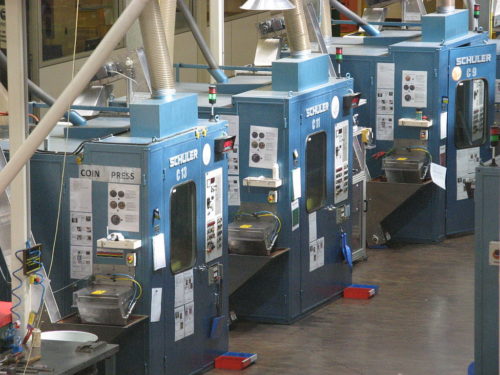
[[222,256],[222,168],[207,172],[205,182],[205,260],[210,262]]

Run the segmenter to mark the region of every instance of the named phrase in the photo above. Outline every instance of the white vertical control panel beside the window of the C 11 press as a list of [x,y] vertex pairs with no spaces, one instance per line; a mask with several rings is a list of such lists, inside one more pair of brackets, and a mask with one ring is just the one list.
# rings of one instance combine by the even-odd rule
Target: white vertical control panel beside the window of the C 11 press
[[335,203],[349,197],[349,121],[335,125]]

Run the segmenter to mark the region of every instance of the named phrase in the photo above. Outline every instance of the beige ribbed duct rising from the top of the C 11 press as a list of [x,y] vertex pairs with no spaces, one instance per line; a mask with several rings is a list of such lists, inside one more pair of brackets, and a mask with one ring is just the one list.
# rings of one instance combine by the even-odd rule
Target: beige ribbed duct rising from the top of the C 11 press
[[311,42],[307,31],[303,0],[291,0],[295,8],[283,11],[286,33],[292,56],[304,56],[311,53]]

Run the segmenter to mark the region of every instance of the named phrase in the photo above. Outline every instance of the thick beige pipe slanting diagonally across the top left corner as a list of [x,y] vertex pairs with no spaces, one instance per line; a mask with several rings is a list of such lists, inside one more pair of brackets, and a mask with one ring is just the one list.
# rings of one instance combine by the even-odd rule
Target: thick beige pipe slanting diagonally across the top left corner
[[127,31],[139,17],[148,3],[156,0],[132,0],[125,8],[120,17],[115,21],[111,29],[104,36],[97,48],[92,52],[88,60],[83,64],[62,94],[56,99],[47,114],[42,118],[35,130],[26,138],[17,152],[11,156],[7,165],[0,171],[0,195],[30,160],[38,147],[50,134],[57,122],[73,103],[76,97],[87,87],[97,70],[104,65],[111,52],[125,37]]

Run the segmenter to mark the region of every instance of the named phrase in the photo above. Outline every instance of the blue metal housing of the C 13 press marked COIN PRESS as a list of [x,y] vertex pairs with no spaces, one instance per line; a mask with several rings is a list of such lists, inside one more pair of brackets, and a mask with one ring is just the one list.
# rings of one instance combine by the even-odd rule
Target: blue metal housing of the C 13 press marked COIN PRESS
[[[70,178],[89,178],[82,171],[95,166],[110,168],[138,168],[140,176],[135,186],[140,192],[139,229],[123,231],[125,238],[140,239],[142,247],[137,251],[136,279],[142,284],[143,296],[138,301],[133,314],[151,315],[152,289],[162,288],[161,316],[159,321],[149,319],[132,324],[128,328],[117,329],[111,326],[75,325],[72,329],[96,332],[102,338],[120,345],[117,360],[117,373],[120,374],[164,374],[188,375],[206,370],[213,365],[215,357],[228,349],[227,332],[227,289],[219,289],[209,283],[208,269],[220,264],[223,272],[227,269],[227,159],[224,154],[214,151],[215,140],[226,134],[224,121],[197,121],[195,127],[187,128],[175,135],[152,140],[141,137],[111,137],[101,141],[86,141],[83,151],[78,155],[69,154],[64,178],[62,214],[54,254],[51,275],[53,290],[59,290],[72,281],[70,279]],[[208,150],[208,151],[207,151]],[[192,157],[182,162],[172,163],[171,158],[190,153]],[[193,155],[196,155],[194,157]],[[54,228],[57,220],[55,202],[58,201],[59,184],[63,170],[63,154],[40,152],[31,161],[32,166],[32,223],[37,242],[44,245],[43,261],[50,263]],[[222,256],[207,258],[206,213],[207,173],[220,170],[223,233]],[[96,240],[105,238],[108,227],[108,181],[92,178],[92,227],[94,264],[123,265],[125,259],[103,258],[97,256]],[[137,180],[137,179],[136,179]],[[194,333],[175,340],[175,275],[171,271],[170,224],[175,220],[171,215],[170,197],[177,186],[187,182],[196,186],[196,256],[190,269],[194,276]],[[127,182],[124,182],[127,184]],[[132,183],[134,184],[134,183]],[[129,183],[130,186],[132,185]],[[48,203],[50,202],[50,203]],[[153,213],[158,209],[159,217]],[[165,235],[167,266],[153,269],[152,237],[158,233]],[[95,266],[94,266],[95,267]],[[222,280],[224,283],[225,280]],[[78,282],[78,287],[84,281]],[[74,312],[72,292],[77,288],[66,288],[56,293],[63,315]],[[219,296],[219,297],[217,297]],[[219,306],[217,302],[219,301]],[[219,323],[213,332],[213,323]],[[52,325],[52,329],[67,329],[66,323]],[[69,324],[69,323],[68,323]],[[116,332],[120,331],[119,334]],[[113,333],[114,332],[114,333]],[[109,333],[109,336],[108,336]]]

